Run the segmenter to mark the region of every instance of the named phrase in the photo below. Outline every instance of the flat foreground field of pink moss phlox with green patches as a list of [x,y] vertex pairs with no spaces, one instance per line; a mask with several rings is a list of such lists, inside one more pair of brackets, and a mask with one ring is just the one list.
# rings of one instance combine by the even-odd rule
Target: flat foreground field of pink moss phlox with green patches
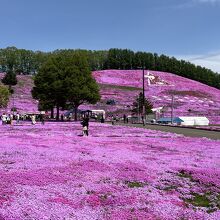
[[81,129],[0,126],[0,219],[220,219],[220,141],[98,123],[82,137]]

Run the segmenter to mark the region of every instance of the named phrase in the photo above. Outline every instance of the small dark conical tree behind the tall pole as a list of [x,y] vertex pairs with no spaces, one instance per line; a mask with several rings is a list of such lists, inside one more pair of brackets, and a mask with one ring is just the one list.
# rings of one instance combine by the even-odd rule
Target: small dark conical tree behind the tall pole
[[143,113],[143,103],[145,104],[145,115],[152,113],[153,104],[144,97],[143,101],[143,93],[140,92],[139,96],[136,98],[135,102],[133,103],[133,114]]

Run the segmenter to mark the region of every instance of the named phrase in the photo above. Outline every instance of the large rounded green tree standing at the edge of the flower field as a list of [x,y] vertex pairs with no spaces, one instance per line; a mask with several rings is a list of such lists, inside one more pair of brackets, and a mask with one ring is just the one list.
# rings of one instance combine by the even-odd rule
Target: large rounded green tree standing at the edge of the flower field
[[[32,96],[39,100],[39,107],[56,108],[57,120],[60,108],[67,104],[77,109],[85,103],[95,104],[99,99],[99,88],[92,78],[88,57],[81,51],[57,51],[39,70],[34,78]],[[45,109],[47,110],[47,109]]]

